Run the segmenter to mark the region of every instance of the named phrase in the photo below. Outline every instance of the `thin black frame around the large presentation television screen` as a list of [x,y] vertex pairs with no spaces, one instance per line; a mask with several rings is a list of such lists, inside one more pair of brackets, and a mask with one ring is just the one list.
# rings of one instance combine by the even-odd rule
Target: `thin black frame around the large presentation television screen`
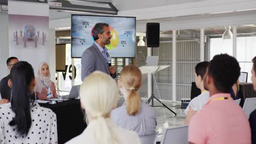
[[[82,57],[73,57],[72,55],[72,23],[73,23],[73,16],[77,16],[77,14],[72,14],[71,15],[71,58],[82,58]],[[107,16],[107,15],[78,15],[78,16],[101,16],[101,17],[124,17],[124,18],[134,18],[135,19],[135,53],[134,53],[134,57],[112,57],[112,58],[136,58],[136,51],[137,51],[137,47],[136,47],[136,17],[133,16]]]

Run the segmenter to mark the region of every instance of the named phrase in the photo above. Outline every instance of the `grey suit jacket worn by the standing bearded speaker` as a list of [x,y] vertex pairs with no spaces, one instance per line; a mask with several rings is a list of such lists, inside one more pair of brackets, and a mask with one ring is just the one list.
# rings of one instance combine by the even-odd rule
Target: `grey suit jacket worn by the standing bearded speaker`
[[[96,44],[92,44],[88,49],[86,49],[82,55],[81,59],[81,65],[82,65],[82,74],[81,79],[82,81],[86,76],[94,72],[95,70],[102,71],[103,73],[109,74],[108,70],[108,63],[106,62],[106,59],[102,56],[102,53],[100,50],[98,50],[98,47]],[[113,78],[115,78],[117,75],[110,75]]]

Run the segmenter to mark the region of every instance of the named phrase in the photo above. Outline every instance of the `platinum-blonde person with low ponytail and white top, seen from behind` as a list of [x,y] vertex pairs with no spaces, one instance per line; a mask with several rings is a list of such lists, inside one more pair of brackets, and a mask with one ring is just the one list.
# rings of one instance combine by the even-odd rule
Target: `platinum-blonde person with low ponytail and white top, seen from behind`
[[89,124],[82,134],[67,143],[140,143],[134,131],[118,127],[110,116],[117,106],[118,87],[109,75],[94,71],[86,76],[80,86],[80,101]]

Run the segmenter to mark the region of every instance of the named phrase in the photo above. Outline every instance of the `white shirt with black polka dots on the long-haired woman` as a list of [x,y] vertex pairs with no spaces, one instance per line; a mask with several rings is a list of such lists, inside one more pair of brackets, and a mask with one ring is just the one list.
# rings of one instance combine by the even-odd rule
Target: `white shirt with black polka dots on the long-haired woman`
[[[32,105],[32,104],[31,104]],[[27,136],[18,136],[16,126],[9,122],[15,117],[11,104],[0,105],[0,143],[57,143],[56,114],[50,109],[39,106],[36,102],[31,106],[31,127]]]

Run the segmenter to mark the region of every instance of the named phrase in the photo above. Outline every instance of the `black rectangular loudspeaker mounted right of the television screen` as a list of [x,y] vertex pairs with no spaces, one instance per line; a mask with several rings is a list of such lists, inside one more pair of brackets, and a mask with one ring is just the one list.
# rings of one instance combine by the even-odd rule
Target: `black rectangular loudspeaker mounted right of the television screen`
[[159,47],[160,23],[147,23],[147,47]]

